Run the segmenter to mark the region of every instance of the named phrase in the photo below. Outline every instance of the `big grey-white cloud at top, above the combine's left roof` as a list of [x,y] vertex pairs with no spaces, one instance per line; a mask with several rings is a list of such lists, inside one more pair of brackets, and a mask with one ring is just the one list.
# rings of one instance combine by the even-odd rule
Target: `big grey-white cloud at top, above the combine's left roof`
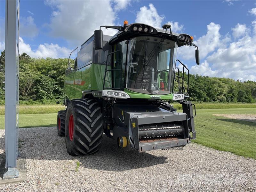
[[[53,1],[45,4],[52,7],[51,35],[62,37],[72,45],[80,45],[101,25],[115,25],[116,13],[126,8],[130,1]],[[112,8],[112,6],[114,8]],[[104,29],[103,34],[114,35],[115,29]]]

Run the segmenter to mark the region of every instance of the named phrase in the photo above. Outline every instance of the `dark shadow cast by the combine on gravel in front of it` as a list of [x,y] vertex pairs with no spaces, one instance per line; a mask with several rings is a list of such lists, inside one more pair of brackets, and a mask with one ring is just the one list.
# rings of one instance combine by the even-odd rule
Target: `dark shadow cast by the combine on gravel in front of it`
[[167,157],[165,156],[155,156],[147,152],[139,153],[133,150],[123,151],[117,148],[114,140],[107,138],[105,135],[103,138],[102,146],[97,153],[77,158],[86,168],[124,171],[167,162]]

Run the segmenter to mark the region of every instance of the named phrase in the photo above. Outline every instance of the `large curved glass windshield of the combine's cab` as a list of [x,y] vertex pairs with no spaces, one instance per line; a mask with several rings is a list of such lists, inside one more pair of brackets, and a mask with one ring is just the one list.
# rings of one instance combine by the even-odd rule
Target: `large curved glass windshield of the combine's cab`
[[145,94],[171,93],[176,42],[165,36],[139,36],[130,40],[126,88]]

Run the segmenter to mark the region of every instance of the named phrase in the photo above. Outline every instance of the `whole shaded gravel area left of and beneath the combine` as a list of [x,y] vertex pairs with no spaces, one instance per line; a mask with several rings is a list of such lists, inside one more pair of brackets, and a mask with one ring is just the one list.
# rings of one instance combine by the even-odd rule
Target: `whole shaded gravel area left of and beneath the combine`
[[[30,128],[28,128],[30,129]],[[26,130],[26,129],[22,129]],[[123,151],[117,148],[116,142],[103,134],[103,141],[98,152],[88,156],[70,156],[67,153],[65,138],[59,137],[56,128],[36,128],[25,133],[21,132],[19,140],[21,153],[26,154],[26,159],[35,160],[78,160],[81,166],[88,169],[103,171],[124,171],[143,167],[150,167],[167,163],[167,157],[155,156],[147,152]],[[0,143],[4,137],[0,138]],[[60,162],[67,163],[70,162]]]

